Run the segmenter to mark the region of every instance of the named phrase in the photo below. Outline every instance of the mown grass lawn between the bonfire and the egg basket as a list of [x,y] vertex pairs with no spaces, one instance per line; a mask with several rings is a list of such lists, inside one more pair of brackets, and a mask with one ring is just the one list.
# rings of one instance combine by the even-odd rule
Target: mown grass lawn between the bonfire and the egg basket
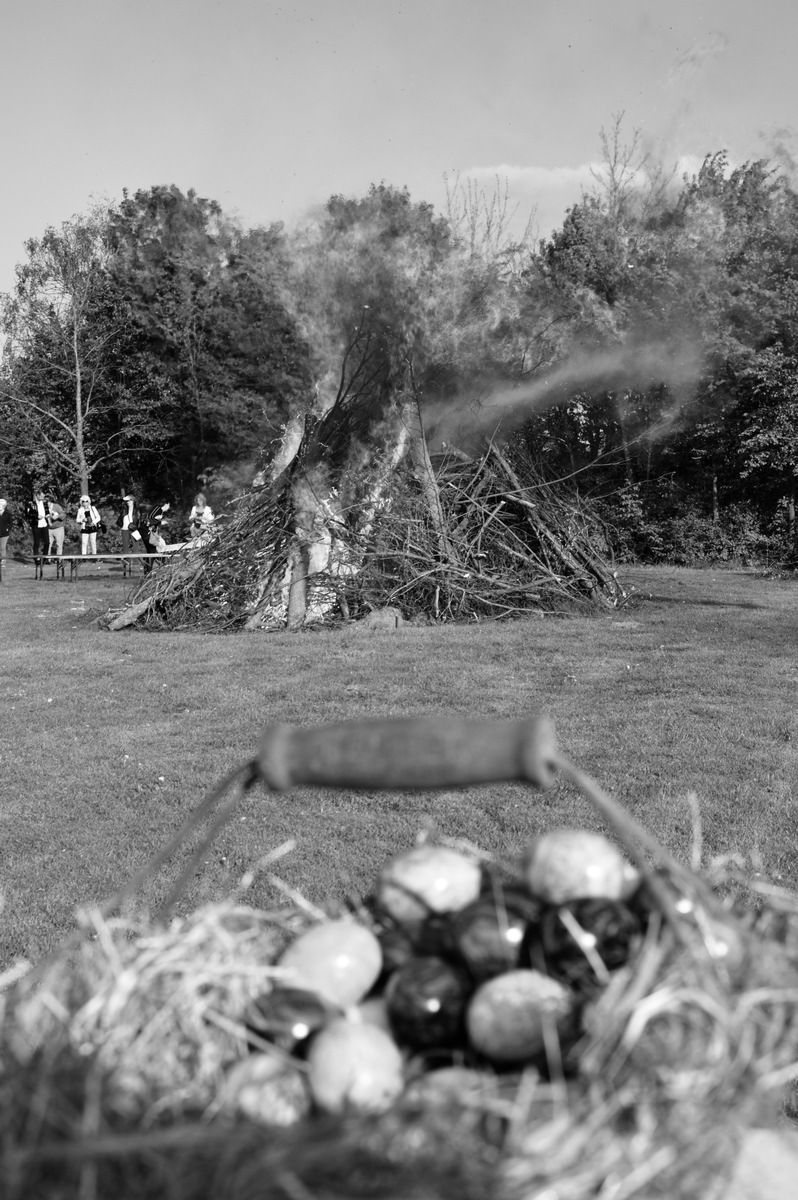
[[[545,712],[565,752],[688,862],[686,797],[704,857],[755,854],[798,888],[798,581],[744,571],[635,569],[625,608],[365,632],[108,634],[118,575],[0,587],[0,965],[38,958],[76,911],[162,847],[276,721]],[[433,822],[514,857],[542,829],[602,828],[570,786],[440,793],[251,792],[181,907],[226,895],[295,839],[281,877],[323,901],[368,889],[383,859]],[[191,847],[151,881],[169,888]],[[252,902],[282,904],[259,877]]]

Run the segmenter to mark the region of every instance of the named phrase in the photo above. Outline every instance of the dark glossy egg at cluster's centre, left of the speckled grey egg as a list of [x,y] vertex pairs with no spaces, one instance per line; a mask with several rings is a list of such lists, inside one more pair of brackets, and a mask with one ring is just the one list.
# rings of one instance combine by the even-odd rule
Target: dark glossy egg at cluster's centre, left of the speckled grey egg
[[388,980],[385,1004],[397,1042],[414,1050],[455,1045],[473,990],[468,973],[444,959],[412,959]]

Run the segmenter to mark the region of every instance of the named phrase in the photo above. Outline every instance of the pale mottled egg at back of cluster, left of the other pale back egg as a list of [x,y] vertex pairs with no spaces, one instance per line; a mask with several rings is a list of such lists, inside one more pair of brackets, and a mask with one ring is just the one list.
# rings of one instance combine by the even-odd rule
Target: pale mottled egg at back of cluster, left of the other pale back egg
[[377,902],[401,925],[418,926],[431,913],[456,912],[479,895],[478,863],[449,846],[416,846],[388,863],[377,881]]

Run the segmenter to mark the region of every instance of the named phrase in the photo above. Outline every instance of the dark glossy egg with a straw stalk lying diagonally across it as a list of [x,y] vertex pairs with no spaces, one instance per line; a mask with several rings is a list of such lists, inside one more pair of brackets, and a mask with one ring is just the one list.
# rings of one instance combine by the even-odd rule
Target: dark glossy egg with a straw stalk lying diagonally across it
[[638,918],[619,900],[569,900],[529,930],[524,956],[545,974],[594,991],[628,961],[641,932]]

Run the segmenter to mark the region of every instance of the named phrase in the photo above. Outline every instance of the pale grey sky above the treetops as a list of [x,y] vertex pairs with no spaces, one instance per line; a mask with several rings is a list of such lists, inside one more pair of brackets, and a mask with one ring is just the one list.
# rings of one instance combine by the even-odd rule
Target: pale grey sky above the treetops
[[17,0],[0,18],[0,290],[92,197],[194,187],[246,223],[386,180],[506,174],[548,232],[625,110],[668,162],[798,126],[794,0]]

